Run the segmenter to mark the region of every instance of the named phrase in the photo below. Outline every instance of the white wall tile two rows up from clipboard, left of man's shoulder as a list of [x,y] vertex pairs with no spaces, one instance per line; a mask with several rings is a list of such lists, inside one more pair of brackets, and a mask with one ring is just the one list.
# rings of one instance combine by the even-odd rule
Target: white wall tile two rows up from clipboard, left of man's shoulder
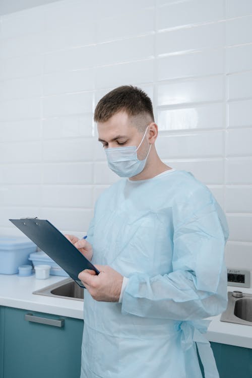
[[42,206],[91,209],[93,188],[91,185],[43,185]]

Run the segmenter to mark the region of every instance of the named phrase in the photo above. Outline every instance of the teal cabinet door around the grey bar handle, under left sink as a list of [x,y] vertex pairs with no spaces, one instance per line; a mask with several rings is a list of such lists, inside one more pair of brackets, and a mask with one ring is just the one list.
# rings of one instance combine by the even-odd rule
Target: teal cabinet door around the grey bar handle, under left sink
[[[80,378],[83,321],[18,308],[4,309],[4,378]],[[28,313],[40,319],[64,319],[64,326],[27,321]]]

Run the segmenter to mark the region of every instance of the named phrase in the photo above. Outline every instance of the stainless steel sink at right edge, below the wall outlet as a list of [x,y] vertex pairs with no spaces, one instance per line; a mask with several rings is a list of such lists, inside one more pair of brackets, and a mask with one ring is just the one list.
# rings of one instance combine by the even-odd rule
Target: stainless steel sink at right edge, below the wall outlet
[[220,320],[252,326],[252,294],[229,291],[227,308]]

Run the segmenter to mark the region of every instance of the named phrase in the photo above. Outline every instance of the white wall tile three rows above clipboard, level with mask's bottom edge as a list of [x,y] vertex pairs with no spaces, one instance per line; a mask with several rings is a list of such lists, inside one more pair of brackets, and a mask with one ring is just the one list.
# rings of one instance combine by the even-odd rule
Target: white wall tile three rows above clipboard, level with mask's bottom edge
[[43,183],[45,184],[92,184],[92,163],[43,164]]

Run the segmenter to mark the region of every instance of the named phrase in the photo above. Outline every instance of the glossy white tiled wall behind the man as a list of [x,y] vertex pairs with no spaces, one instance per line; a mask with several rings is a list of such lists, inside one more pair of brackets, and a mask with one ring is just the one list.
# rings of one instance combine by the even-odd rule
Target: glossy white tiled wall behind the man
[[64,0],[0,21],[0,234],[22,216],[85,234],[117,179],[94,108],[134,84],[153,100],[161,158],[226,211],[227,264],[252,269],[250,0]]

